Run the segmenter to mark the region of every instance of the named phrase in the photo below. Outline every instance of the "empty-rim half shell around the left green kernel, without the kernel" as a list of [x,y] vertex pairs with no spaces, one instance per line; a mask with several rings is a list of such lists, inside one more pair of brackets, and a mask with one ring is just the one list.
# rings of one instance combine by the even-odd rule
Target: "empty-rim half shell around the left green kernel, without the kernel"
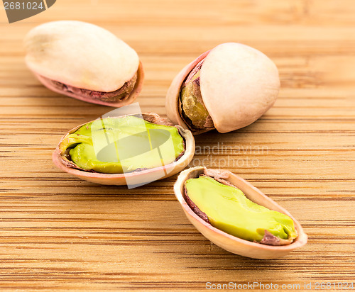
[[[137,114],[128,116],[140,115]],[[155,123],[158,125],[173,125],[167,120],[160,118],[160,116],[158,116],[156,113],[143,113],[142,118],[150,123]],[[85,124],[87,123],[84,123],[82,125]],[[176,125],[175,127],[178,128],[181,137],[185,141],[185,152],[183,152],[182,156],[178,157],[175,162],[166,164],[162,167],[155,167],[152,169],[139,169],[125,174],[103,174],[99,172],[88,172],[84,169],[77,168],[75,164],[68,160],[65,155],[62,155],[62,150],[60,150],[60,145],[62,141],[65,140],[67,136],[71,133],[75,133],[75,131],[81,128],[82,125],[75,127],[74,129],[70,130],[69,133],[67,133],[64,137],[62,137],[57,148],[53,152],[53,162],[57,167],[67,172],[68,174],[72,174],[74,176],[79,177],[80,179],[84,179],[85,181],[91,181],[97,184],[111,184],[121,186],[128,184],[127,181],[129,181],[129,184],[132,185],[144,184],[146,182],[154,181],[155,179],[165,179],[166,177],[172,176],[187,167],[187,164],[190,163],[195,153],[195,139],[192,136],[190,130],[185,130],[179,125]]]

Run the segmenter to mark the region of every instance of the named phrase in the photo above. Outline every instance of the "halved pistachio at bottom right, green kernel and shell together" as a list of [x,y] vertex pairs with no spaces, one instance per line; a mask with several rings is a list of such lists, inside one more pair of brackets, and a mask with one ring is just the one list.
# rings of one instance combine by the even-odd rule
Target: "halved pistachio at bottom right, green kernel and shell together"
[[174,191],[197,230],[234,254],[274,259],[307,243],[300,223],[287,210],[226,170],[186,169]]

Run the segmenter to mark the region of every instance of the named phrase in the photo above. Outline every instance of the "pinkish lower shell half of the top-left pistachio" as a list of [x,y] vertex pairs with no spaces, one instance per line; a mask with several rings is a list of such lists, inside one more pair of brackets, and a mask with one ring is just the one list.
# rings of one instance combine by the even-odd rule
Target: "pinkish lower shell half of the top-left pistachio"
[[[129,96],[127,96],[125,99],[122,99],[122,100],[119,100],[119,101],[116,101],[116,102],[108,102],[108,101],[101,100],[99,98],[88,98],[87,96],[82,96],[80,94],[75,94],[74,92],[70,92],[70,91],[62,91],[62,90],[58,89],[58,87],[54,86],[52,82],[48,82],[48,79],[45,79],[45,78],[41,77],[39,74],[36,74],[35,72],[33,72],[33,73],[35,74],[35,77],[37,77],[37,79],[45,87],[47,87],[51,91],[57,92],[58,94],[64,94],[64,95],[70,96],[70,97],[72,97],[74,99],[79,99],[80,101],[86,101],[86,102],[89,102],[89,103],[96,103],[96,104],[100,104],[102,106],[113,106],[115,108],[119,108],[121,106],[128,106],[129,104],[133,103],[133,101],[136,100],[136,98],[138,97],[138,95],[142,91],[143,80],[144,80],[143,66],[142,66],[142,63],[139,62],[139,67],[138,67],[138,71],[137,71],[137,81],[136,81],[136,84],[133,87],[133,90],[129,94]],[[127,81],[129,81],[129,80],[130,79],[128,79]]]

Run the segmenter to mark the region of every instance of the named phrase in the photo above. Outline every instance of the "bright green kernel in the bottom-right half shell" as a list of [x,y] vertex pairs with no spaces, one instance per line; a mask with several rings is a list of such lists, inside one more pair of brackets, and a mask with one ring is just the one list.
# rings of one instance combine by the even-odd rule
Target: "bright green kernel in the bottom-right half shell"
[[283,213],[250,201],[234,186],[221,184],[209,176],[188,179],[187,196],[219,230],[244,240],[261,242],[266,230],[282,240],[293,240],[297,231],[293,220]]

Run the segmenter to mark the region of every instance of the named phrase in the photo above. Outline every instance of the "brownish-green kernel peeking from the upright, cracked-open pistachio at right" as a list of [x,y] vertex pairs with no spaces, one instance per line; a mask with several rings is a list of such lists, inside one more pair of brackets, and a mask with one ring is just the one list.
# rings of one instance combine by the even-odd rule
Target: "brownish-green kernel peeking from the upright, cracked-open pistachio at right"
[[182,87],[180,99],[183,113],[195,128],[203,129],[210,126],[206,125],[210,117],[201,97],[200,70]]

